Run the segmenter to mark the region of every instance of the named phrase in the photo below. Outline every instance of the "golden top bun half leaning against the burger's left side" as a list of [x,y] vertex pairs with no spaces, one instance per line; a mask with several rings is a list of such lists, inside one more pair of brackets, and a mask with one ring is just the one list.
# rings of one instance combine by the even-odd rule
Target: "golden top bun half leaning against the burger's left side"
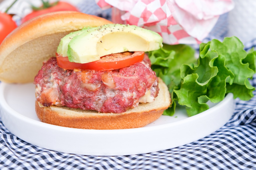
[[42,62],[55,56],[60,39],[83,27],[112,23],[75,11],[35,17],[16,28],[0,46],[0,81],[33,82]]

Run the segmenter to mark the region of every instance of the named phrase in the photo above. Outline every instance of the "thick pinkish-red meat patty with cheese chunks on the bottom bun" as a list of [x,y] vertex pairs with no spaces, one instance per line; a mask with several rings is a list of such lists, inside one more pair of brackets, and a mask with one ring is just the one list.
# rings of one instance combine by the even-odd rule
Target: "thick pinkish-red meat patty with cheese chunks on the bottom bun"
[[145,55],[142,62],[110,71],[65,70],[55,57],[44,63],[34,79],[36,100],[50,105],[122,113],[139,103],[153,102],[158,79]]

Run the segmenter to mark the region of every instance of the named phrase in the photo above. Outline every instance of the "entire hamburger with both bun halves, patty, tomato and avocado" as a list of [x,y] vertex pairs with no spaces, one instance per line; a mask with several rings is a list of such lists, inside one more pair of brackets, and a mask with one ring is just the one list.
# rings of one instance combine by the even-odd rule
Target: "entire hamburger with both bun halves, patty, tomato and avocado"
[[[150,68],[144,52],[149,48],[143,48],[147,43],[131,34],[121,38],[117,34],[114,39],[106,34],[103,39],[97,39],[96,44],[100,44],[97,50],[91,46],[95,43],[90,38],[86,56],[80,57],[85,46],[79,39],[97,30],[105,33],[105,26],[107,29],[127,27],[74,11],[48,13],[25,22],[0,46],[0,80],[34,82],[36,114],[48,124],[81,129],[127,129],[155,121],[169,107],[170,94]],[[76,35],[80,33],[83,36]],[[95,34],[94,39],[99,35]],[[122,41],[132,41],[132,46],[140,46],[144,51],[102,50],[110,49],[111,44],[119,46]],[[130,58],[132,63],[128,62]]]

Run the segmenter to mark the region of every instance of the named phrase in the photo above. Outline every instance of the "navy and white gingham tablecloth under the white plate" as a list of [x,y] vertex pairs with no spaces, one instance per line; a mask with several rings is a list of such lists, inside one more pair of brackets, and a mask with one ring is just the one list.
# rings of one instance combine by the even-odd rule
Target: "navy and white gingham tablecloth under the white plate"
[[[78,7],[110,19],[108,10],[101,11],[93,3],[84,1]],[[256,40],[248,42],[245,49],[255,45]],[[251,83],[256,87],[256,75]],[[40,148],[12,135],[0,117],[0,169],[256,169],[255,112],[256,96],[250,101],[236,99],[232,118],[211,135],[173,149],[126,156],[74,155]]]

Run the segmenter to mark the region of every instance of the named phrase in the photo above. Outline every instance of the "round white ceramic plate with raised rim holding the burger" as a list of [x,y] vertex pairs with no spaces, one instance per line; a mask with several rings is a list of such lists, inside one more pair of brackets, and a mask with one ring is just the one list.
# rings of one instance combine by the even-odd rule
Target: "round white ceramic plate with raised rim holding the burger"
[[35,113],[35,87],[0,83],[1,117],[18,138],[49,150],[81,155],[131,155],[175,148],[201,139],[222,127],[232,116],[232,94],[210,109],[187,117],[185,110],[161,116],[143,128],[89,130],[42,123]]

